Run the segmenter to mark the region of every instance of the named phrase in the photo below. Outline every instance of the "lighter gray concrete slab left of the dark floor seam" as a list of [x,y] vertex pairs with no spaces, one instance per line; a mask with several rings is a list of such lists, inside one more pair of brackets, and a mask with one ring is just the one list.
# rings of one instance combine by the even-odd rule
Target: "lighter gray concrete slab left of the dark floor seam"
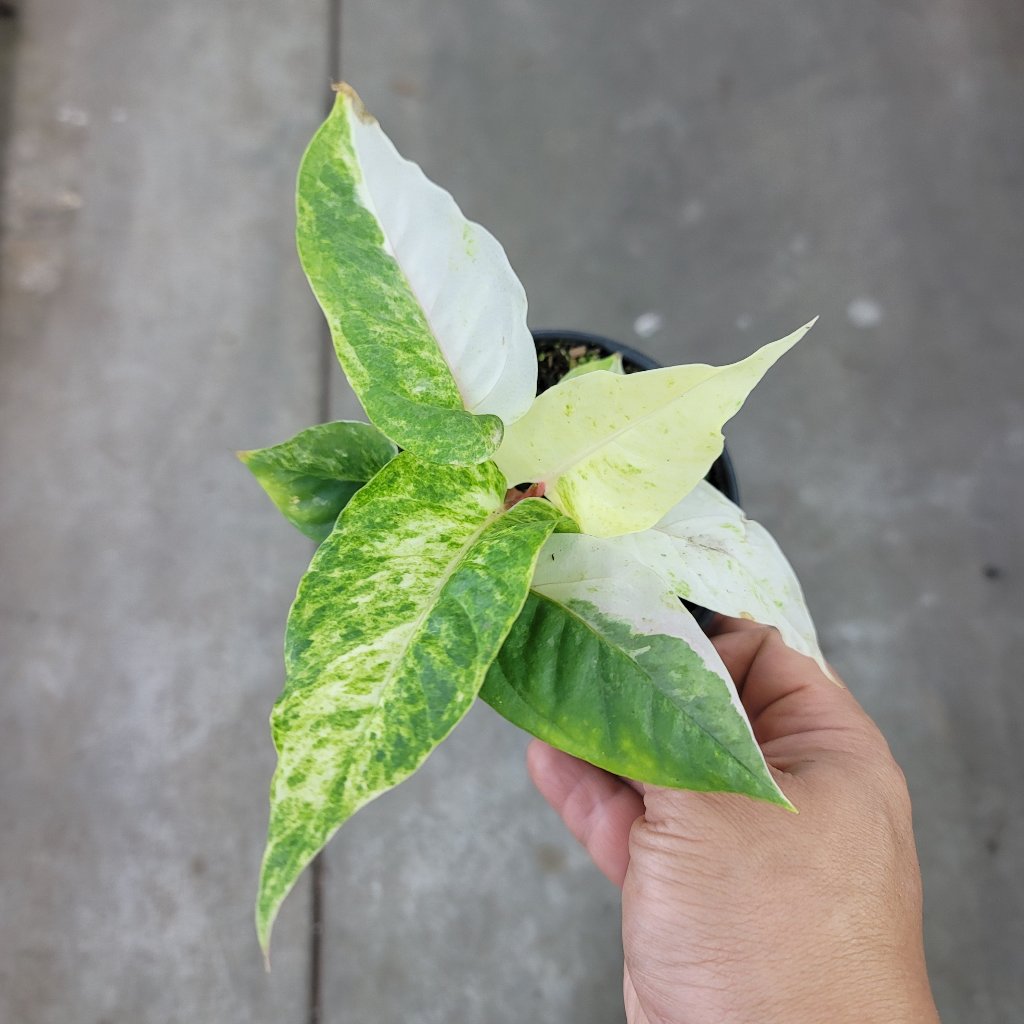
[[23,4],[0,284],[0,1021],[304,1019],[252,899],[308,556],[232,450],[315,419],[316,3]]

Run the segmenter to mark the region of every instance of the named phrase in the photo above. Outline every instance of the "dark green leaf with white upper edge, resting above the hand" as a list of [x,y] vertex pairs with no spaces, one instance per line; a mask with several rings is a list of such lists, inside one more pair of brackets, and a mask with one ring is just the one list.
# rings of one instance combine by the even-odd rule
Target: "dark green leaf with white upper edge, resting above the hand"
[[548,541],[480,696],[617,775],[790,806],[711,641],[616,542]]

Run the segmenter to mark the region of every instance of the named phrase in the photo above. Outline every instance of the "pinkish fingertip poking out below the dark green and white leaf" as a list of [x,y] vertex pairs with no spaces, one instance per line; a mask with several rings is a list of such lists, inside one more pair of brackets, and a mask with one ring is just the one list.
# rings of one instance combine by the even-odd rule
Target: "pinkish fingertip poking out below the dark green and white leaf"
[[622,886],[629,866],[630,828],[643,800],[626,782],[535,739],[526,752],[529,777],[566,828],[607,879]]

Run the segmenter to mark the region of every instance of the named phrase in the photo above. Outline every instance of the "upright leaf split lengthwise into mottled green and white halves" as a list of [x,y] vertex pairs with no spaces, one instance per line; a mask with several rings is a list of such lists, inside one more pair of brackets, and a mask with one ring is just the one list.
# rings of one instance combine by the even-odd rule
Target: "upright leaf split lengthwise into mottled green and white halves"
[[302,266],[370,419],[432,462],[489,458],[537,392],[526,296],[499,243],[345,85],[297,202]]

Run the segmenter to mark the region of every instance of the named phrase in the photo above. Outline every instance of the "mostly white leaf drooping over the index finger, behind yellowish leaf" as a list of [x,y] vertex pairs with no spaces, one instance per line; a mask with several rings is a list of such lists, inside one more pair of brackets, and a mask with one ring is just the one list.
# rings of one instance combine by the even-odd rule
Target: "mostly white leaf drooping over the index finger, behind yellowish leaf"
[[835,678],[818,646],[796,572],[771,535],[701,481],[650,529],[623,538],[673,593],[735,618],[774,626]]

